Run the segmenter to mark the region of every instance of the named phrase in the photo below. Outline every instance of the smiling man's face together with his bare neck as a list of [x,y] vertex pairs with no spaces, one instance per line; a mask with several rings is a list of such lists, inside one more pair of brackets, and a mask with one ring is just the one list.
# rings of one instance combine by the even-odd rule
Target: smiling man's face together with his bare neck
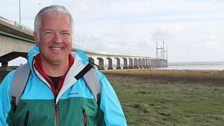
[[[36,17],[34,38],[40,48],[41,65],[50,76],[62,76],[72,49],[72,19],[66,13],[43,13]],[[40,27],[41,26],[41,27]]]

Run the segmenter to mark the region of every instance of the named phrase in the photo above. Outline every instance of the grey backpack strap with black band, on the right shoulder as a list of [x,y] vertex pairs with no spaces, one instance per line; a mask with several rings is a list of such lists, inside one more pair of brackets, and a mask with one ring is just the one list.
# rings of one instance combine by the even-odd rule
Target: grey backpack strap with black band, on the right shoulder
[[84,78],[86,85],[89,87],[90,91],[93,94],[94,99],[96,100],[99,106],[101,99],[101,85],[96,75],[96,71],[93,69],[93,66],[91,64],[87,64],[85,68],[75,76],[77,80],[80,79],[81,77]]

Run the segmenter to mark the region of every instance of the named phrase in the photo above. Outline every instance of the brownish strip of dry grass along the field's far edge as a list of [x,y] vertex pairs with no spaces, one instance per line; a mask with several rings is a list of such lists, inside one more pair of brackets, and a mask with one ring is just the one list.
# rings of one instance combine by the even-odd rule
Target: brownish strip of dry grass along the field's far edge
[[209,83],[223,85],[224,71],[219,70],[102,70],[106,76],[133,77],[167,82]]

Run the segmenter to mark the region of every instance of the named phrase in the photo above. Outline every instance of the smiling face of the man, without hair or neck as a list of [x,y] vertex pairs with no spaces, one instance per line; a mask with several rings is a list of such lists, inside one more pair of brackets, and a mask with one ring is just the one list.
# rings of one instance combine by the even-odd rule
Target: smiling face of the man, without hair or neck
[[59,64],[68,61],[72,49],[72,25],[67,15],[60,13],[43,15],[39,37],[37,33],[34,33],[34,37],[43,62]]

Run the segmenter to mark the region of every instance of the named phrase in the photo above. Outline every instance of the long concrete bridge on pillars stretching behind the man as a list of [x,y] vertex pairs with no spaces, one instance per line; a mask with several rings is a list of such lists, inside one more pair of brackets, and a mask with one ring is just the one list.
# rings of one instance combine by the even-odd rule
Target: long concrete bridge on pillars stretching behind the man
[[[27,52],[35,45],[33,31],[19,23],[0,17],[0,63],[1,70],[7,70],[8,62],[26,58]],[[80,50],[76,47],[73,51]],[[99,53],[83,50],[89,60],[98,64],[98,69],[153,69],[167,67],[167,60],[145,56]],[[107,61],[107,62],[106,62]],[[115,61],[116,63],[114,63]]]

